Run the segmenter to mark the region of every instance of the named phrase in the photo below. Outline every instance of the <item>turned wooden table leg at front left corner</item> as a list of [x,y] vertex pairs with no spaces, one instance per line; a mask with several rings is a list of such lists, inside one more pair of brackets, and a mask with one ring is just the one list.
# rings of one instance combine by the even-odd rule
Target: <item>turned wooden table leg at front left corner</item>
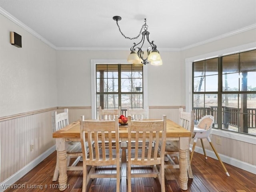
[[56,148],[58,153],[58,167],[59,167],[59,189],[64,191],[67,188],[67,145],[64,138],[56,139]]

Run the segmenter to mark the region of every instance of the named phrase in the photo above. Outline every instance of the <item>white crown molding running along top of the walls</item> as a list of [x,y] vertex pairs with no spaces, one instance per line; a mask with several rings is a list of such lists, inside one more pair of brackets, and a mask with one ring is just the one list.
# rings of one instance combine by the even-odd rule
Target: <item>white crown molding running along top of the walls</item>
[[[29,33],[31,33],[32,35],[34,35],[35,37],[37,37],[38,39],[40,39],[42,42],[46,43],[47,45],[49,45],[50,47],[52,47],[55,50],[75,50],[75,51],[127,51],[130,50],[130,48],[123,48],[123,47],[56,47],[55,45],[53,45],[52,43],[50,43],[49,41],[47,41],[44,37],[42,37],[41,35],[39,35],[38,33],[36,33],[34,30],[30,29],[27,25],[23,24],[20,20],[16,19],[14,16],[12,16],[11,14],[9,14],[6,10],[4,10],[3,8],[0,7],[0,14],[2,14],[3,16],[5,16],[6,18],[8,18],[9,20],[11,20],[12,22],[14,22],[15,24],[19,25],[20,27],[22,27],[23,29],[25,29],[26,31],[28,31]],[[244,27],[242,29],[238,29],[235,31],[231,31],[229,33],[225,33],[223,35],[219,35],[217,37],[213,37],[211,39],[207,39],[206,41],[201,41],[192,45],[188,45],[186,47],[182,47],[182,48],[158,48],[159,51],[183,51],[186,49],[190,49],[192,47],[196,47],[199,45],[204,45],[206,43],[210,43],[212,41],[216,41],[219,39],[223,39],[225,37],[229,37],[238,33],[242,33],[244,31],[248,31],[250,29],[254,29],[256,28],[256,24],[253,25],[249,25],[247,27]]]

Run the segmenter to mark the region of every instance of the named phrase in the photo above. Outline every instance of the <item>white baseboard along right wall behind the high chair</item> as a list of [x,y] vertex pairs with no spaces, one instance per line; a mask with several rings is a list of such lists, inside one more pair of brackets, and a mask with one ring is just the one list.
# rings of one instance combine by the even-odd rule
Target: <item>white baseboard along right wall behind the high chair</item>
[[[190,147],[192,148],[192,145],[190,145]],[[206,151],[206,154],[207,154],[208,157],[211,157],[213,159],[218,159],[216,157],[214,151],[210,151],[208,149],[206,149],[205,151]],[[202,147],[196,146],[195,152],[204,155],[204,151],[203,151]],[[240,161],[238,159],[234,159],[232,157],[228,157],[226,155],[222,155],[220,153],[219,153],[219,156],[220,156],[221,161],[223,161],[224,163],[227,163],[227,164],[232,165],[234,167],[238,167],[238,168],[241,168],[241,169],[246,170],[248,172],[251,172],[253,174],[256,174],[256,166],[255,165],[246,163],[244,161]]]

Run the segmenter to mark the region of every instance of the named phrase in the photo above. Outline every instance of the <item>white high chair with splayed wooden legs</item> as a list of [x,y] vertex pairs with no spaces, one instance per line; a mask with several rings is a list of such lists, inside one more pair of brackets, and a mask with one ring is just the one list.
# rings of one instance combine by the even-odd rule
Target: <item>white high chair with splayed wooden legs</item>
[[210,143],[216,157],[220,161],[220,164],[222,165],[222,168],[224,169],[226,175],[230,176],[226,167],[225,167],[225,165],[222,163],[222,161],[220,159],[220,156],[218,155],[214,145],[212,144],[211,139],[210,139],[210,133],[212,131],[213,122],[214,122],[214,117],[211,116],[211,115],[206,115],[206,116],[202,117],[199,120],[198,125],[196,125],[194,127],[194,131],[193,131],[194,133],[193,133],[193,137],[192,137],[192,138],[194,138],[194,143],[193,143],[193,147],[192,147],[190,163],[191,163],[192,158],[193,158],[193,154],[194,154],[194,150],[195,150],[195,147],[196,147],[197,139],[200,139],[201,144],[202,144],[202,148],[203,148],[203,151],[204,151],[204,157],[205,157],[205,159],[207,159],[206,151],[205,151],[205,148],[204,148],[204,142],[203,142],[203,139],[207,139],[208,142]]

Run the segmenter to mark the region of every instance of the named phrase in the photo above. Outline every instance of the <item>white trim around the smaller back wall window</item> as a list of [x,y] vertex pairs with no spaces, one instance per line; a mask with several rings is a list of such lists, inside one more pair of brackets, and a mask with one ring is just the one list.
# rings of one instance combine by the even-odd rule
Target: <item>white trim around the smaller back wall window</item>
[[[127,64],[122,59],[91,59],[91,106],[92,119],[96,119],[96,64]],[[148,106],[148,68],[143,67],[143,108]]]

